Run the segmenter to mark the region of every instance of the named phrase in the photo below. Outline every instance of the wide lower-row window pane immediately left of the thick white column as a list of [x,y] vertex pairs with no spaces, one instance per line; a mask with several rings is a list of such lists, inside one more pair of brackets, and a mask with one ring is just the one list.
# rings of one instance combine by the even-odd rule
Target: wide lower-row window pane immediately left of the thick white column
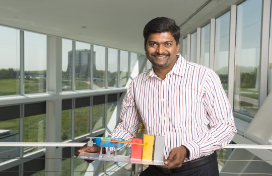
[[[24,118],[24,142],[45,142],[45,114]],[[24,147],[24,154],[42,147]]]

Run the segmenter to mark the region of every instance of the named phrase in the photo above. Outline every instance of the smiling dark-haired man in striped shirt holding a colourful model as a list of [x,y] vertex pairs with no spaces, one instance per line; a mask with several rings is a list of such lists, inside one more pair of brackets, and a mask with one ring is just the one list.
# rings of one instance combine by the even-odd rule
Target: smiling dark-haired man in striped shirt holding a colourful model
[[[166,166],[150,165],[141,176],[219,175],[215,150],[236,133],[218,75],[178,54],[179,37],[179,27],[169,18],[145,26],[145,51],[153,67],[129,84],[120,123],[110,135],[129,140],[143,121],[147,134],[165,136]],[[85,146],[77,155],[99,150]]]

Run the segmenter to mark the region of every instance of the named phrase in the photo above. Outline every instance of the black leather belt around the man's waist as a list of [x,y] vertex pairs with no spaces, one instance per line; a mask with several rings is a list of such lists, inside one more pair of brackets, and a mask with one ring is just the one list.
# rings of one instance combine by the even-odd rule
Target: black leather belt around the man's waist
[[194,159],[194,160],[191,160],[191,161],[188,161],[188,162],[184,162],[182,164],[181,167],[178,167],[178,168],[173,168],[173,169],[167,169],[167,168],[163,168],[161,166],[156,166],[156,165],[152,165],[154,166],[155,168],[157,168],[158,170],[164,172],[164,173],[177,173],[177,172],[181,172],[181,171],[184,171],[184,170],[189,170],[189,169],[192,169],[194,167],[198,167],[198,166],[201,166],[201,165],[205,165],[205,164],[208,164],[214,160],[217,159],[217,154],[216,154],[216,151],[209,155],[209,156],[203,156],[203,157],[200,157],[200,158],[197,158],[197,159]]

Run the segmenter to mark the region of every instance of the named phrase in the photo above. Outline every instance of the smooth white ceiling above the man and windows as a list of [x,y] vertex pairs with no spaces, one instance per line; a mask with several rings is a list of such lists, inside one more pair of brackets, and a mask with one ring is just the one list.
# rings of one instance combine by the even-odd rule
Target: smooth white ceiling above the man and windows
[[[145,53],[142,33],[148,21],[169,17],[180,25],[206,1],[8,0],[0,2],[0,25]],[[181,29],[188,32],[206,14],[235,1],[213,0]]]

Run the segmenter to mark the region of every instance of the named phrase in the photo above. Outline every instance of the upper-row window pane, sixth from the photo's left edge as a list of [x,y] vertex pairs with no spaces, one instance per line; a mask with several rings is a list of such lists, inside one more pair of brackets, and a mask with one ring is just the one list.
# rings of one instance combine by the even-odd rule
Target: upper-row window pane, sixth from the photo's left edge
[[117,87],[118,50],[108,49],[108,88]]

